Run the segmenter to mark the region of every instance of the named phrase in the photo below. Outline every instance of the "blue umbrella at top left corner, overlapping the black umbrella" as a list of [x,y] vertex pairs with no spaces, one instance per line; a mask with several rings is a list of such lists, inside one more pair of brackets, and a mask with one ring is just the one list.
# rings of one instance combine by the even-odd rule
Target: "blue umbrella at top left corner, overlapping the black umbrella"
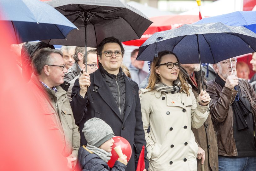
[[0,0],[0,23],[9,26],[12,43],[64,39],[77,27],[60,12],[39,0]]

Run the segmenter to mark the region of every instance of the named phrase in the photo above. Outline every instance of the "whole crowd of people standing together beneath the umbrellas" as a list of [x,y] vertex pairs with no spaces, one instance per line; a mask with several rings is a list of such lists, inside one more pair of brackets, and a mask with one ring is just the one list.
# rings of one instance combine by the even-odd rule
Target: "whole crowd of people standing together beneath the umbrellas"
[[[122,64],[125,49],[115,37],[87,52],[21,46],[22,74],[69,170],[134,171],[143,145],[144,171],[255,170],[256,75],[249,79],[236,57],[201,71],[162,51],[147,73],[135,60],[138,49],[130,66]],[[250,63],[256,71],[256,53]],[[109,168],[114,135],[130,143],[132,155]]]

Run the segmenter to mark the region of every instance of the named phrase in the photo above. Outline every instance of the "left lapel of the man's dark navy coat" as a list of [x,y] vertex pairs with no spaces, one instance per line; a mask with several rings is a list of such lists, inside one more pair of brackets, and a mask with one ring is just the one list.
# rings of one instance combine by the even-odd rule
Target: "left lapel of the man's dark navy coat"
[[105,101],[105,103],[114,111],[114,113],[122,121],[122,118],[121,118],[119,110],[116,106],[113,94],[111,93],[107,83],[105,82],[104,78],[102,77],[100,69],[96,70],[94,73],[94,84],[96,86],[98,86],[98,93],[101,96],[101,98]]

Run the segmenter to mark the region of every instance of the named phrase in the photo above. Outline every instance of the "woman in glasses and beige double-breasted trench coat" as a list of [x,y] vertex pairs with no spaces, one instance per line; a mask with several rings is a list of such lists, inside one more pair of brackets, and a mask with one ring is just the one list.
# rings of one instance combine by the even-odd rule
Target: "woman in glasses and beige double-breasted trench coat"
[[159,52],[148,87],[140,89],[149,171],[197,170],[198,145],[191,126],[199,128],[205,122],[211,99],[206,91],[195,99],[180,67],[174,53]]

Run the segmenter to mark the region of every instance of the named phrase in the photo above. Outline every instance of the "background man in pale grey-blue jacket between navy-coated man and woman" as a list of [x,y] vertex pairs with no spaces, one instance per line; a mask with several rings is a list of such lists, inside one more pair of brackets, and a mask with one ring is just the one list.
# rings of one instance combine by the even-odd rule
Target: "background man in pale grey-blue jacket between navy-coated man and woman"
[[138,85],[147,77],[148,73],[143,71],[143,60],[136,60],[139,53],[139,49],[134,49],[131,52],[131,64],[128,67],[131,73],[131,79],[133,79]]

